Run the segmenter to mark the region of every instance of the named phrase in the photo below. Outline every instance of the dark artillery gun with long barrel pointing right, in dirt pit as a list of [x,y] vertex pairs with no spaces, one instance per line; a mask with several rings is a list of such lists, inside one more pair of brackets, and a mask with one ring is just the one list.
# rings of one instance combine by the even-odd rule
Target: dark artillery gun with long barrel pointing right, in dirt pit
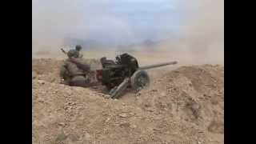
[[165,62],[150,66],[138,66],[136,58],[130,54],[121,54],[116,57],[115,62],[105,57],[100,59],[102,70],[96,70],[96,78],[110,90],[111,98],[118,98],[126,88],[135,91],[141,90],[150,84],[150,77],[146,70],[160,66],[177,64],[177,62]]

